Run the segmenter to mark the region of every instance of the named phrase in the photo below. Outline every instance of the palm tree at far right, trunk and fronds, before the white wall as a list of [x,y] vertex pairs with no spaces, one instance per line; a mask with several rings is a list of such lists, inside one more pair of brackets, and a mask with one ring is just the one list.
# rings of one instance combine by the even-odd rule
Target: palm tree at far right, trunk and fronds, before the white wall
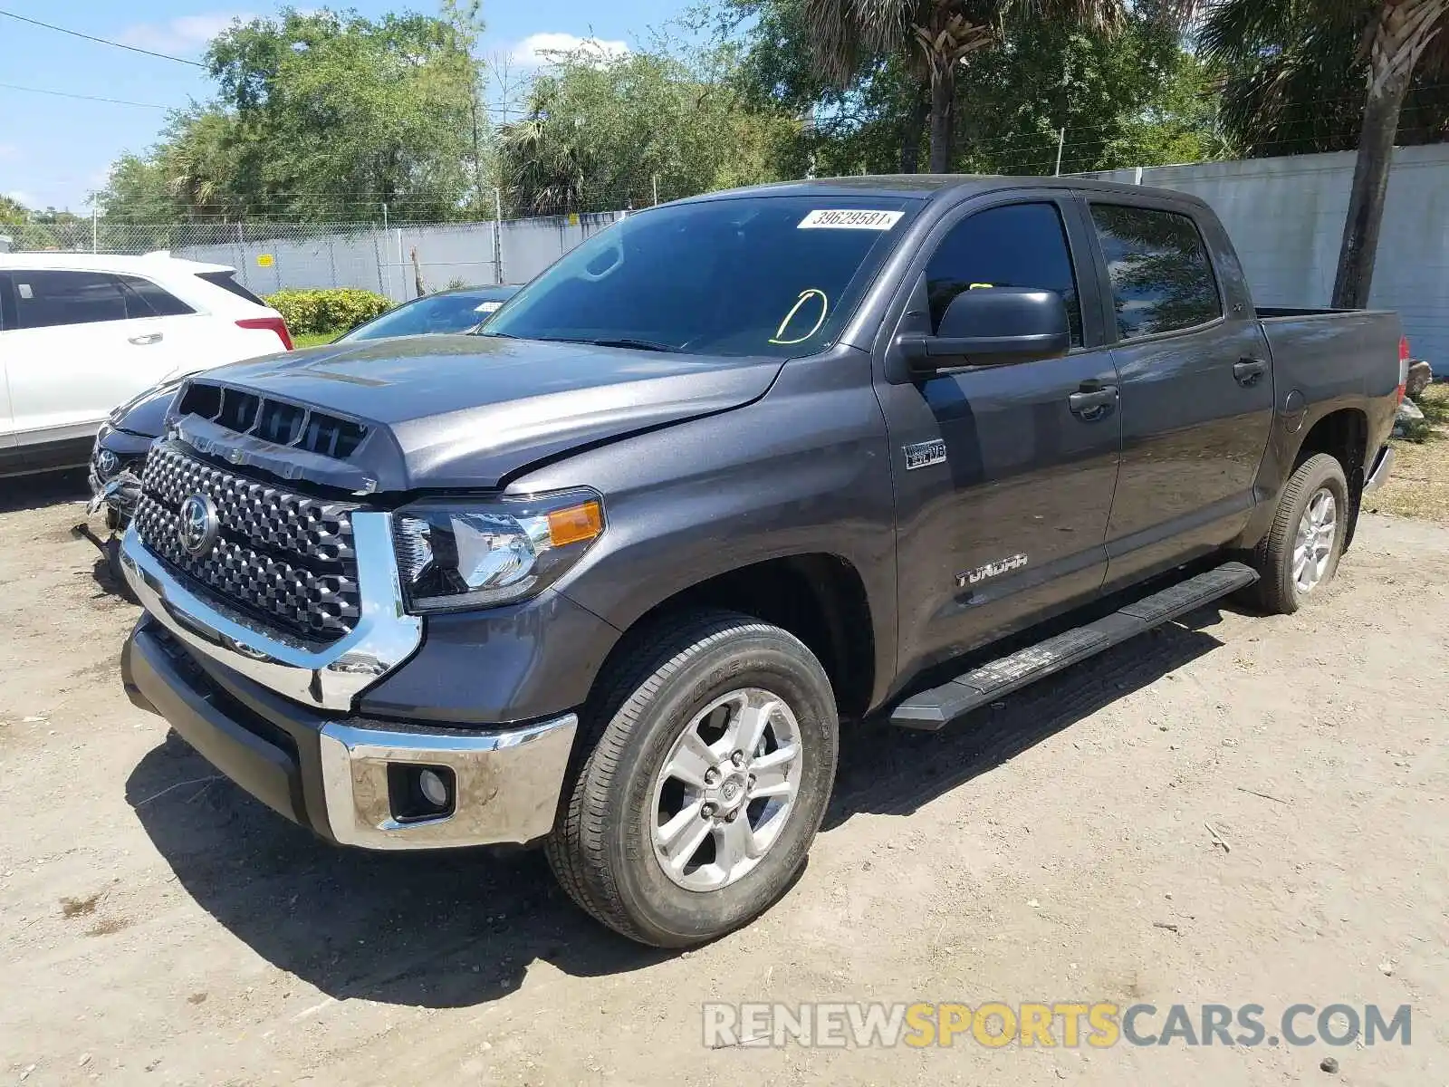
[[1400,113],[1416,71],[1449,68],[1449,0],[1206,0],[1201,7],[1203,55],[1249,72],[1236,99],[1229,77],[1227,106],[1243,126],[1253,123],[1255,104],[1259,123],[1275,119],[1282,97],[1265,80],[1313,78],[1343,62],[1345,42],[1359,43],[1365,93],[1333,304],[1366,306]]

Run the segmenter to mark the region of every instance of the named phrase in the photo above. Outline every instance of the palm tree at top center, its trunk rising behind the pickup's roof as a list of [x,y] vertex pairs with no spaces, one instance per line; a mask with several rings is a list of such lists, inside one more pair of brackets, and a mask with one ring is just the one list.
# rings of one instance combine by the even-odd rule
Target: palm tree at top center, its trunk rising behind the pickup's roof
[[930,88],[930,170],[951,170],[955,136],[956,68],[978,49],[1001,41],[1013,10],[1039,19],[1068,19],[1088,29],[1113,29],[1126,0],[806,0],[816,65],[846,84],[881,55],[898,55]]

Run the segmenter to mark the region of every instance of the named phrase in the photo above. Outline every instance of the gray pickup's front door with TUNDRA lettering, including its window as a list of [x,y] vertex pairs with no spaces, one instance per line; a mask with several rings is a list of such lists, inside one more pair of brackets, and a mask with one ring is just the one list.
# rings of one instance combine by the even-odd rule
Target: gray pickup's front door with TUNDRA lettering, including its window
[[903,674],[1101,588],[1122,423],[1101,315],[1077,287],[1095,283],[1091,252],[1069,194],[997,196],[938,225],[907,278],[897,335],[935,335],[972,287],[1029,287],[1062,296],[1072,348],[913,378],[891,336],[877,390],[895,481]]

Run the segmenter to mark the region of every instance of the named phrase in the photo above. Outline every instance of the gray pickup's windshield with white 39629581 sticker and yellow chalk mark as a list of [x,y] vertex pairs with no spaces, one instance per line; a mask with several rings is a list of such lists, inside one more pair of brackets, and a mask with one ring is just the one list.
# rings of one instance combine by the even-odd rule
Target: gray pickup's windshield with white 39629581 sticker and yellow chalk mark
[[481,335],[810,355],[833,342],[917,207],[759,196],[630,215],[564,255]]

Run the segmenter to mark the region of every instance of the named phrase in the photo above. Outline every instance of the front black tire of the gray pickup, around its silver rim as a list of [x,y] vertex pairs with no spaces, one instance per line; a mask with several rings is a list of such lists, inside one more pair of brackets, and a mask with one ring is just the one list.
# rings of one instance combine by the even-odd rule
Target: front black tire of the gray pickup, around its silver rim
[[[797,810],[745,877],[690,891],[653,854],[655,777],[684,723],[742,687],[778,694],[796,715],[804,759]],[[839,745],[829,678],[803,642],[729,612],[675,617],[636,639],[584,717],[578,764],[545,844],[561,886],[584,910],[630,939],[690,946],[748,923],[784,894],[824,817]]]

